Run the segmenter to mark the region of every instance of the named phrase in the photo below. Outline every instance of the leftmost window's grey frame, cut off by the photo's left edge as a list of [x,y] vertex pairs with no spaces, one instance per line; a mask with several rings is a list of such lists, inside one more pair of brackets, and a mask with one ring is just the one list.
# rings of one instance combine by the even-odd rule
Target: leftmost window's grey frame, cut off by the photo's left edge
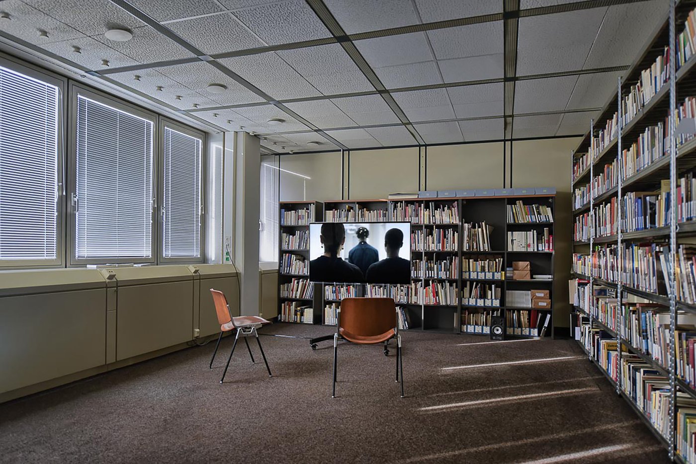
[[55,259],[3,259],[0,260],[0,269],[53,269],[65,266],[65,117],[67,105],[65,95],[68,92],[68,79],[43,70],[41,67],[15,61],[13,57],[0,54],[0,65],[24,74],[33,79],[38,79],[58,88],[58,134],[57,134],[57,195],[56,195],[56,258]]

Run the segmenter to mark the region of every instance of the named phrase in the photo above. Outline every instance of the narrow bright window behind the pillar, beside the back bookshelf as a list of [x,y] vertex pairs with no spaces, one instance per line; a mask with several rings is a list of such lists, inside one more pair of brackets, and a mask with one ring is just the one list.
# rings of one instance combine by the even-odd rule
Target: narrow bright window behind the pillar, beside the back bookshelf
[[259,227],[259,261],[278,261],[278,157],[261,157],[261,211]]

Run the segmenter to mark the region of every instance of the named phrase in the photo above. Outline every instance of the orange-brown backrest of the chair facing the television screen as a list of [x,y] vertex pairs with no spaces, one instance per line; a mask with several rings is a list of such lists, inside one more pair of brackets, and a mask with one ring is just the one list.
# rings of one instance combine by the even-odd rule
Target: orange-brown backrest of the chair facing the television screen
[[338,320],[352,335],[382,335],[397,327],[396,305],[392,298],[344,298]]

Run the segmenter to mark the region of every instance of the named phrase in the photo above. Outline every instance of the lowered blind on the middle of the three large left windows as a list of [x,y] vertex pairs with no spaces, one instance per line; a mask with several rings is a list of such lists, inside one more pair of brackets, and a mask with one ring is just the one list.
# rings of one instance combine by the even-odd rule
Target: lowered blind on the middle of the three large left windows
[[75,257],[152,257],[150,120],[77,98]]

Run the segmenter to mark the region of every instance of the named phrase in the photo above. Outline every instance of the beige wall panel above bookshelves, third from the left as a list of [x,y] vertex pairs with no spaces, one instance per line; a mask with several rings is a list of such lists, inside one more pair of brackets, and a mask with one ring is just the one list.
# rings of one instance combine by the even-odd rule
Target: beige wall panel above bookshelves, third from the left
[[503,188],[503,143],[428,147],[428,190]]

